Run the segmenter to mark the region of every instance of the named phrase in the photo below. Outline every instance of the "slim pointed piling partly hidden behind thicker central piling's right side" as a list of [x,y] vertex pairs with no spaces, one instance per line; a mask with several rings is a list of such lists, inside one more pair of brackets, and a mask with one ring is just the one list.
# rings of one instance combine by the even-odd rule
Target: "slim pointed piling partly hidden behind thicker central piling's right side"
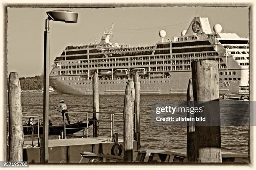
[[140,143],[141,143],[141,82],[140,82],[140,76],[138,75],[138,72],[136,72],[134,78],[134,90],[135,90],[135,99],[134,99],[134,112],[136,115],[134,115],[134,120],[136,120],[136,132],[134,134],[135,140],[137,141],[137,149],[140,149]]

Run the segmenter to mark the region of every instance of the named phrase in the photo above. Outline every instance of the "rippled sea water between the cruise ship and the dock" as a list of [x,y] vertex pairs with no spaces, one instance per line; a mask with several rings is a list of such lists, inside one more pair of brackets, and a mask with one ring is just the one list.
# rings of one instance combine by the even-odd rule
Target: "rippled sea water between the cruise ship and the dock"
[[[124,95],[100,95],[100,112],[123,112]],[[60,100],[65,100],[69,112],[91,112],[92,95],[59,95],[50,92],[49,95],[49,120],[54,125],[63,124],[60,112],[55,109]],[[152,101],[185,101],[186,95],[141,95],[141,149],[186,149],[187,128],[172,125],[154,125],[151,120]],[[8,107],[7,107],[8,108]],[[221,112],[225,108],[220,108]],[[43,118],[43,93],[42,92],[23,92],[22,93],[23,115],[33,115]],[[69,114],[70,116],[82,120],[86,119],[85,114]],[[88,117],[92,117],[89,113]],[[35,118],[36,120],[36,118]],[[70,117],[72,122],[76,120]],[[100,135],[110,136],[110,115],[102,114],[100,120]],[[114,133],[118,133],[122,138],[123,124],[122,115],[115,115]],[[24,122],[26,119],[24,119]],[[24,123],[23,122],[23,123]],[[91,130],[89,130],[91,133]],[[58,136],[50,136],[50,139],[57,139]],[[248,153],[248,126],[221,126],[221,148],[237,150]]]

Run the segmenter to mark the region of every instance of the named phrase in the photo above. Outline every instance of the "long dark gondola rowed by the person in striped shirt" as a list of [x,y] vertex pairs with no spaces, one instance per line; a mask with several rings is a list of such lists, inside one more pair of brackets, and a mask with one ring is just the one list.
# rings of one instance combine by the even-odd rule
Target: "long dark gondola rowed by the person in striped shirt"
[[[88,127],[93,125],[94,119],[88,120],[89,124]],[[72,123],[70,125],[66,125],[66,134],[73,134],[77,133],[80,130],[83,130],[84,128],[87,128],[87,123],[84,123],[83,121],[78,121],[76,123]],[[64,132],[64,125],[57,125],[57,126],[49,126],[49,135],[60,135],[61,131]],[[38,134],[38,126],[28,126],[23,125],[23,133],[24,135],[36,135]],[[43,126],[39,127],[39,133],[43,134]]]

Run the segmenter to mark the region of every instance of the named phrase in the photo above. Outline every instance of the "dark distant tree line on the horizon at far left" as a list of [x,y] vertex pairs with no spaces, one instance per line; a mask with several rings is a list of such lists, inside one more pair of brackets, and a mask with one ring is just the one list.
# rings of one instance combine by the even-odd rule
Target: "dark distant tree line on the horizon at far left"
[[[7,85],[8,85],[8,82],[9,82],[9,79],[7,80]],[[43,87],[44,87],[43,76],[36,75],[35,77],[20,77],[21,90],[41,90]]]

